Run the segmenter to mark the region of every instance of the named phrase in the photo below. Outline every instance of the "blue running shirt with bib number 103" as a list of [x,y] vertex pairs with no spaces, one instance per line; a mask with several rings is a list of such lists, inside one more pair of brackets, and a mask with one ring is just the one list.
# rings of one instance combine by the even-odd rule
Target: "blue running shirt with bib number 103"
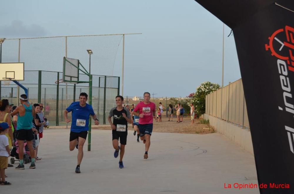
[[92,106],[86,103],[85,107],[80,106],[80,102],[73,102],[66,108],[68,112],[71,113],[71,131],[72,132],[82,132],[89,130],[89,118],[90,115],[95,115]]

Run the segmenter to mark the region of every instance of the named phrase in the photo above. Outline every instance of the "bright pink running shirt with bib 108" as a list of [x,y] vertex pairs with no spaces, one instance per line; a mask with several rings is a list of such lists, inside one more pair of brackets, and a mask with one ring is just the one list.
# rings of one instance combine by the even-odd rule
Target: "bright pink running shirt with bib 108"
[[153,102],[150,102],[150,104],[144,104],[144,102],[140,102],[135,109],[134,112],[137,112],[139,110],[139,113],[143,113],[144,117],[139,118],[139,124],[152,124],[153,123],[153,111],[155,111],[155,104]]

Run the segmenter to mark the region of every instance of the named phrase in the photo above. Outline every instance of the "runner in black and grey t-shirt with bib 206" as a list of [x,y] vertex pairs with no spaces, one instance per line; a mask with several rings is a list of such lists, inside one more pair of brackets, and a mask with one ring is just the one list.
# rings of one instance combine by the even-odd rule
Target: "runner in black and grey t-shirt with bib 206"
[[[128,122],[132,123],[131,113],[128,108],[124,108],[123,97],[116,96],[115,98],[117,107],[112,108],[108,115],[108,122],[112,129],[112,145],[115,149],[114,157],[117,158],[119,150],[121,150],[119,159],[119,168],[123,168],[123,154],[125,153],[125,146],[127,144],[128,135]],[[111,117],[113,117],[113,123],[111,122]],[[120,139],[121,146],[118,145],[118,139]]]

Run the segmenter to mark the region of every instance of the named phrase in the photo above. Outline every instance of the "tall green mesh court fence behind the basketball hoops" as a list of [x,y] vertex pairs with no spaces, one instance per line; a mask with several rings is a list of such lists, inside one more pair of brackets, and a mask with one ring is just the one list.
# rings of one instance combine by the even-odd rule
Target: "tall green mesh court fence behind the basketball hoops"
[[[65,125],[63,111],[72,102],[78,101],[81,92],[89,93],[88,83],[65,84],[55,83],[62,79],[62,72],[25,71],[24,81],[19,81],[28,89],[30,103],[43,103],[44,115],[50,125]],[[79,75],[80,81],[88,81],[85,74]],[[119,77],[93,75],[92,106],[100,123],[108,124],[107,116],[111,108],[115,107],[115,96],[119,94]],[[17,105],[18,96],[24,93],[14,82],[5,86],[2,82],[1,99],[9,99],[10,103]]]

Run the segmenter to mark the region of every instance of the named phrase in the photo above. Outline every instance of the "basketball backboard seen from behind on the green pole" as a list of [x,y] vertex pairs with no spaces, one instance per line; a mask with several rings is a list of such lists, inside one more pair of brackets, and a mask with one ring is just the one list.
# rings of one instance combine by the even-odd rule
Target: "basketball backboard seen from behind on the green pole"
[[74,67],[74,65],[70,64],[68,61],[79,68],[78,59],[71,59],[71,58],[64,57],[64,62],[63,62],[63,82],[64,83],[74,83],[74,84],[76,84],[76,82],[78,81],[79,69]]

